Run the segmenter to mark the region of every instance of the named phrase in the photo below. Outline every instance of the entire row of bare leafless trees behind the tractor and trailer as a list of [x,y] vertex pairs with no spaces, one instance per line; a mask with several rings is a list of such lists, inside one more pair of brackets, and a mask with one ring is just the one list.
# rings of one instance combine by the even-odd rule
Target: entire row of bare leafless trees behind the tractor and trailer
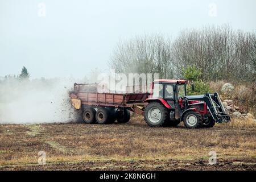
[[159,73],[184,78],[195,65],[204,81],[256,81],[255,32],[212,26],[183,30],[174,39],[162,34],[137,36],[117,44],[109,61],[121,73]]

